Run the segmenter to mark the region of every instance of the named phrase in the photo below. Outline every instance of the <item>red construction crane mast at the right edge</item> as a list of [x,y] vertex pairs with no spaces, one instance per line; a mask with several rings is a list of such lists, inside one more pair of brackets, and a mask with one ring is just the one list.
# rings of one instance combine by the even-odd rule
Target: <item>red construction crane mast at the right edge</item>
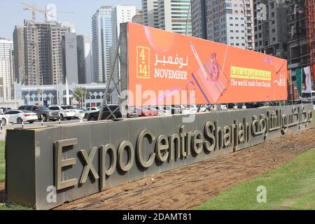
[[309,67],[314,76],[314,45],[315,45],[315,0],[305,0],[307,17],[307,50],[309,51]]

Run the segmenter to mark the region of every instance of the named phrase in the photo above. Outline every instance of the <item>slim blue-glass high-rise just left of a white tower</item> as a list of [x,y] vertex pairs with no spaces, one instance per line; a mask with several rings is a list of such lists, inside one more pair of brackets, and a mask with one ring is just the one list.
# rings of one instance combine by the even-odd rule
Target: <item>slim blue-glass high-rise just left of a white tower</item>
[[93,82],[105,83],[111,66],[113,29],[112,7],[102,6],[92,16],[92,61]]

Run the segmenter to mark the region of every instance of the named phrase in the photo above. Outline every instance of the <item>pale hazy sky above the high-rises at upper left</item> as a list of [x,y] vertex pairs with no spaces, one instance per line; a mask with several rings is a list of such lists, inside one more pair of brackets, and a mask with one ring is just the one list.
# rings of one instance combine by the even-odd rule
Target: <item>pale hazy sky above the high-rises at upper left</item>
[[[31,11],[23,10],[21,2],[36,5],[44,9],[48,3],[54,3],[57,11],[74,14],[57,13],[57,20],[74,22],[76,33],[91,36],[91,18],[100,6],[115,6],[120,4],[134,5],[141,9],[141,0],[0,0],[0,37],[13,38],[15,25],[23,25],[25,19],[31,20]],[[36,13],[36,21],[43,22],[42,13]]]

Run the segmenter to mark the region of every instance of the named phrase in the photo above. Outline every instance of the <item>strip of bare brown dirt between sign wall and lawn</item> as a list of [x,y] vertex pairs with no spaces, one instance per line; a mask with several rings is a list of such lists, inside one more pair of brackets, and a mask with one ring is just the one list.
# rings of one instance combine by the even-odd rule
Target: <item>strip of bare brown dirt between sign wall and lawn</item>
[[[125,183],[56,209],[191,209],[314,147],[315,129],[304,130],[236,153]],[[0,183],[0,202],[3,188]]]

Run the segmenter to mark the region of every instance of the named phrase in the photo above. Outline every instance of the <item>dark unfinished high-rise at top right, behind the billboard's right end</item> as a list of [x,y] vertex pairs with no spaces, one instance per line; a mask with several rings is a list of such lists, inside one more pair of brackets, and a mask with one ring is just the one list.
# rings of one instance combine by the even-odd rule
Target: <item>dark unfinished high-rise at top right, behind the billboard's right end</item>
[[[314,69],[314,2],[253,1],[255,50],[288,59],[293,83],[296,69],[306,66]],[[304,82],[305,77],[302,80]]]

